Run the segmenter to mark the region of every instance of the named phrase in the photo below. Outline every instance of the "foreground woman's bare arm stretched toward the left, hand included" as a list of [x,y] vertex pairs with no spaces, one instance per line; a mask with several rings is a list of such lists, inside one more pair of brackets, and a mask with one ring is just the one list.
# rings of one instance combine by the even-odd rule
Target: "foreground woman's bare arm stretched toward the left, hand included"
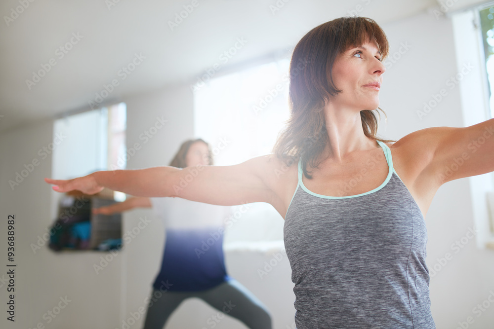
[[108,187],[135,196],[181,197],[223,206],[267,202],[279,210],[287,175],[278,178],[275,171],[283,165],[274,155],[266,155],[233,166],[98,171],[72,180],[45,181],[59,192],[94,194]]

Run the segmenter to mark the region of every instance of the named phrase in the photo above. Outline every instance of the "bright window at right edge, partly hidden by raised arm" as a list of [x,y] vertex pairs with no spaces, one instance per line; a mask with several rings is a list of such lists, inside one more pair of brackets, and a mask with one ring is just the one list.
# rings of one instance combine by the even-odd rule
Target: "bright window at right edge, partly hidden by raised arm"
[[[456,70],[458,76],[463,74],[458,88],[464,126],[492,118],[493,34],[489,31],[493,29],[493,4],[458,10],[451,14]],[[468,74],[461,73],[465,65],[470,68]],[[489,203],[494,205],[493,174],[472,176],[468,180],[474,225],[478,229],[477,247],[494,248],[494,209],[489,207]],[[486,202],[488,200],[491,202]]]

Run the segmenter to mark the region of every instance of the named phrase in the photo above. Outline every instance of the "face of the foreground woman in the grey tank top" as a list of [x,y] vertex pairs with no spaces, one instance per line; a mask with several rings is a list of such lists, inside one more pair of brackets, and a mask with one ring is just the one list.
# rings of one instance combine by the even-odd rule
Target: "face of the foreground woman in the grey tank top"
[[379,107],[379,87],[370,83],[382,82],[386,71],[380,62],[381,54],[375,43],[364,43],[361,47],[350,47],[339,54],[332,69],[332,78],[341,93],[330,102],[338,107],[356,110],[375,110]]

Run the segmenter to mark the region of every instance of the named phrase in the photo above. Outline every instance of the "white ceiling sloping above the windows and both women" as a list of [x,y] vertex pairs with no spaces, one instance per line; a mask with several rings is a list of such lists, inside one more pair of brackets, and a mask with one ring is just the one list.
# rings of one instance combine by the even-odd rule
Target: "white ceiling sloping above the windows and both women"
[[[21,8],[20,1],[29,6]],[[215,63],[228,69],[273,53],[288,56],[310,29],[349,10],[382,25],[437,6],[436,0],[32,1],[0,3],[0,130],[89,109],[95,93],[113,79],[119,85],[108,102],[192,83]],[[192,3],[197,6],[172,31],[167,22]],[[283,7],[273,11],[277,3]],[[21,12],[17,16],[15,9]],[[14,19],[6,22],[5,16]],[[74,45],[62,57],[59,47],[71,37]],[[237,38],[247,43],[223,64],[219,56]],[[118,72],[136,53],[145,59],[123,80]],[[42,65],[49,71],[29,89],[26,80]]]

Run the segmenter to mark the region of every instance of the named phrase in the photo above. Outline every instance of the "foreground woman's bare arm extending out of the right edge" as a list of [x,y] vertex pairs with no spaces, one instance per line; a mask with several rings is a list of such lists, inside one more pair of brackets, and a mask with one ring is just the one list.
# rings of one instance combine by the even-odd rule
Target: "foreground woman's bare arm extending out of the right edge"
[[[494,119],[491,119],[469,127],[427,128],[403,140],[409,145],[405,148],[418,157],[417,179],[437,183],[439,187],[456,179],[494,171],[493,135]],[[396,144],[400,146],[400,142]]]

